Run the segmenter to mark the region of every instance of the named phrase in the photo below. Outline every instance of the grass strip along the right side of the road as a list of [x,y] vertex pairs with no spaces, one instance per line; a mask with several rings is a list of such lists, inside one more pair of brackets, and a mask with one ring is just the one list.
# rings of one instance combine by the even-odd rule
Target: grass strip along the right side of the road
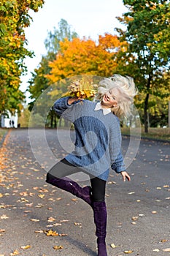
[[[130,129],[128,127],[121,128],[121,131],[122,135],[130,135]],[[139,135],[139,130],[133,128],[131,129],[131,134]],[[170,128],[149,128],[148,133],[145,133],[144,128],[142,128],[141,137],[170,141]]]

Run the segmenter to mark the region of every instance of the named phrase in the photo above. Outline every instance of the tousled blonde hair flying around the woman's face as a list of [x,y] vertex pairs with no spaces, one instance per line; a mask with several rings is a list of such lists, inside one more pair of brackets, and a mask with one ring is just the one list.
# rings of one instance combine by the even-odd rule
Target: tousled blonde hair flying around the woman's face
[[117,101],[117,105],[111,108],[112,112],[119,118],[131,115],[131,107],[133,106],[134,97],[138,93],[133,78],[128,76],[124,77],[122,75],[113,75],[112,77],[104,78],[98,85],[98,94],[96,94],[95,99],[101,101],[107,91],[116,88],[120,93],[120,98]]

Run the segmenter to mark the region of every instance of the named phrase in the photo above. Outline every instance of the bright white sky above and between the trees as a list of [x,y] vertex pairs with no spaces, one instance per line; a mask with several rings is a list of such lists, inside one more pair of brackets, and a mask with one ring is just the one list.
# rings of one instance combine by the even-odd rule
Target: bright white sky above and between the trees
[[[39,12],[29,12],[33,21],[25,29],[27,48],[33,50],[35,56],[25,60],[28,74],[21,78],[21,91],[26,91],[31,72],[34,72],[42,56],[46,54],[44,42],[47,31],[53,31],[54,27],[58,29],[61,19],[66,20],[80,38],[90,37],[97,40],[99,34],[116,34],[115,28],[122,27],[116,17],[123,12],[126,9],[122,0],[46,0]],[[28,93],[26,97],[28,100]]]

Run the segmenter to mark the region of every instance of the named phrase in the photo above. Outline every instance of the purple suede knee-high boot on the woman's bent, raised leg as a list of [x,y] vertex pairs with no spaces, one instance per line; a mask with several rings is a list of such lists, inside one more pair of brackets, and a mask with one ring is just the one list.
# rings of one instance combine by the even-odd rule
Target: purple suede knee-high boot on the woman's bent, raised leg
[[71,178],[56,178],[50,173],[47,173],[46,182],[52,184],[55,187],[70,192],[72,195],[80,197],[82,200],[84,200],[86,203],[92,206],[90,186],[80,187],[79,184],[77,184],[75,181],[72,181]]

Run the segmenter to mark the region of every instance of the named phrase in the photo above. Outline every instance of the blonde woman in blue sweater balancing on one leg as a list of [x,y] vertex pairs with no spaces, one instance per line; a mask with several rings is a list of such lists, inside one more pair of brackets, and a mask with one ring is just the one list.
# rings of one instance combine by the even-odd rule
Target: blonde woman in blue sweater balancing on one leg
[[[74,124],[76,140],[74,151],[53,166],[46,181],[82,198],[93,208],[98,256],[107,256],[105,189],[109,168],[121,173],[123,181],[131,181],[120,150],[119,118],[131,114],[135,95],[133,78],[114,75],[99,83],[98,102],[63,97],[54,104],[55,112]],[[90,186],[80,187],[66,177],[80,171],[88,173]]]

